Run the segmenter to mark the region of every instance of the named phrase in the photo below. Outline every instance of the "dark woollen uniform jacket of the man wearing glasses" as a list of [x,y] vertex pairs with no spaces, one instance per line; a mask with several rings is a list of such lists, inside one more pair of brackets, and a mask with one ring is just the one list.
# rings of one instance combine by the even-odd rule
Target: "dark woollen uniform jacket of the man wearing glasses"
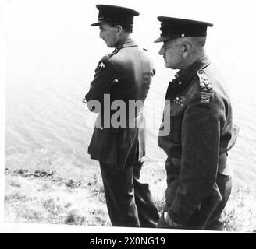
[[[229,174],[226,152],[236,135],[232,109],[218,69],[203,57],[169,82],[158,146],[168,155],[165,192],[169,216],[186,225],[208,198],[221,201],[217,172]],[[169,133],[161,132],[169,121]]]

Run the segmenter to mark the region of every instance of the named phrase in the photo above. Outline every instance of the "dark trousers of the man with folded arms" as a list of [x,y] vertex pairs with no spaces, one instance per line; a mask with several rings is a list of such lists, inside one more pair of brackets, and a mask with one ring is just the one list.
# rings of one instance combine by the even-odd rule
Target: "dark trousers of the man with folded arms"
[[112,226],[156,227],[156,208],[148,184],[140,182],[142,162],[117,169],[101,163],[108,215]]

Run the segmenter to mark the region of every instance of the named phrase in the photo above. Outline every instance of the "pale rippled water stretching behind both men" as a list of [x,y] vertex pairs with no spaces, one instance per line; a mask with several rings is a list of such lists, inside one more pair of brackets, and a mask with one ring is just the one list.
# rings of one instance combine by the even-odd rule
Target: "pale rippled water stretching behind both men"
[[[49,10],[50,2],[29,4],[33,12],[24,2],[11,1],[6,8],[5,168],[58,164],[69,172],[87,172],[98,167],[87,154],[96,116],[82,99],[98,61],[112,50],[99,39],[98,30],[89,26],[97,13],[87,9],[84,16],[76,3],[72,8],[65,5],[69,15],[61,9],[57,18],[59,5]],[[256,40],[247,36],[252,27],[244,27],[246,18],[252,17],[245,16],[241,23],[242,17],[231,15],[235,27],[227,32],[229,22],[223,15],[225,25],[219,21],[217,31],[209,33],[207,50],[226,77],[234,122],[240,127],[236,145],[229,152],[229,165],[233,175],[256,193]],[[143,29],[145,23],[151,26]],[[133,37],[148,48],[156,67],[144,107],[147,156],[152,162],[162,162],[164,168],[166,156],[157,145],[157,136],[165,91],[175,71],[165,68],[158,55],[160,44],[152,42],[159,35],[159,23],[156,19],[155,24],[151,20],[145,23],[134,30]]]

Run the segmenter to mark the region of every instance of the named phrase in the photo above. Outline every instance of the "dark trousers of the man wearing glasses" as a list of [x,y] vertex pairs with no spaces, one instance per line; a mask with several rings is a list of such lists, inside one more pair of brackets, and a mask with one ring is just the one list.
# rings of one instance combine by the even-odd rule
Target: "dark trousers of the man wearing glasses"
[[[222,195],[222,201],[217,205],[213,205],[211,200],[205,198],[201,203],[201,208],[198,209],[190,217],[186,226],[180,227],[181,229],[190,230],[224,230],[224,219],[222,211],[226,206],[232,188],[232,178],[223,174],[217,174],[216,184],[219,192]],[[165,207],[164,212],[167,212],[169,207]],[[164,215],[158,221],[158,228],[176,228],[171,227],[165,223]]]

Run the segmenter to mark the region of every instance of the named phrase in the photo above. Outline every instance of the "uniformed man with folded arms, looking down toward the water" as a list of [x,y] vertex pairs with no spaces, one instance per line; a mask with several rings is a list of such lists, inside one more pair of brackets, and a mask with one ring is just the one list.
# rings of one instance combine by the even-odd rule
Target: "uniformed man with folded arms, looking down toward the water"
[[[139,13],[115,5],[96,7],[98,22],[91,26],[99,26],[101,39],[115,50],[98,62],[90,90],[84,97],[89,109],[99,112],[88,153],[100,163],[112,226],[155,227],[158,210],[148,184],[139,180],[145,153],[143,104],[155,68],[148,51],[138,47],[131,37],[133,16]],[[95,108],[95,100],[101,103],[101,111]],[[126,112],[108,110],[118,100],[125,103]],[[130,113],[130,101],[141,104],[127,121],[124,117]],[[121,111],[120,118],[125,120],[119,126],[109,124],[117,111]]]

